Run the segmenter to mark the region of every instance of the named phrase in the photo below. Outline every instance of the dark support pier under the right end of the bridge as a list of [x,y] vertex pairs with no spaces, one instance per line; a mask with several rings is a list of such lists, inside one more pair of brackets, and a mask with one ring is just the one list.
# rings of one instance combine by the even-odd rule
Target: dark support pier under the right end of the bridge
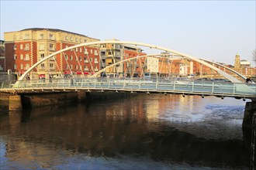
[[243,131],[251,132],[254,113],[256,114],[256,101],[247,102],[244,109]]

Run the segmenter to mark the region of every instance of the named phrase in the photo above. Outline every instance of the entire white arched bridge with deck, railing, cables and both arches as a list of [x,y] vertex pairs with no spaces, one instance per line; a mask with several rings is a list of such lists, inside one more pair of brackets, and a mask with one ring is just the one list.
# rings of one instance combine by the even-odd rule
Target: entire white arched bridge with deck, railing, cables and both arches
[[[72,73],[71,64],[67,62],[67,59],[64,57],[65,52],[69,50],[74,51],[74,56],[76,56],[76,61],[81,69],[81,63],[78,59],[78,54],[75,52],[74,49],[78,47],[84,46],[99,46],[102,44],[119,44],[122,46],[134,46],[135,48],[149,48],[159,50],[161,53],[157,54],[147,54],[147,55],[139,55],[133,56],[130,58],[124,57],[119,61],[116,61],[115,56],[112,55],[113,63],[110,66],[104,67],[104,63],[102,63],[103,58],[99,56],[100,63],[103,66],[102,70],[95,71],[93,70],[94,74],[92,76],[73,76],[64,79],[64,70],[61,70],[60,66],[56,63],[56,57],[62,57],[65,59],[67,63],[67,67],[69,68],[70,72]],[[114,52],[111,51],[113,54]],[[61,55],[62,54],[62,55]],[[190,59],[192,61],[198,62],[203,66],[208,66],[212,70],[219,73],[221,76],[229,80],[229,82],[215,82],[215,81],[196,81],[196,80],[178,80],[171,76],[156,77],[152,80],[148,80],[142,75],[145,72],[145,64],[147,63],[147,59],[150,57],[154,57],[157,59],[166,59],[168,61],[168,67],[171,67],[170,63],[172,63],[175,59]],[[46,63],[48,60],[55,61],[55,67],[58,68],[57,73],[60,73],[60,77],[52,79],[50,77],[48,80],[40,80],[40,72],[35,70],[40,70],[37,66],[40,66],[42,63]],[[88,56],[88,60],[90,61]],[[92,66],[92,63],[89,62]],[[134,66],[134,63],[136,66]],[[139,63],[139,64],[138,64]],[[130,68],[129,66],[132,66]],[[133,75],[138,70],[138,66],[140,66],[140,79],[134,78]],[[92,66],[93,67],[93,66]],[[124,69],[124,68],[128,69]],[[223,68],[223,70],[220,69]],[[120,69],[121,68],[121,69]],[[226,73],[224,70],[229,71]],[[50,75],[51,70],[48,69],[47,71]],[[104,75],[103,73],[109,73],[109,75],[116,75],[119,78],[112,77],[112,78],[102,78],[101,76]],[[130,75],[131,78],[127,78],[125,75],[127,73]],[[234,73],[236,76],[240,77],[240,80],[232,76],[230,73]],[[36,79],[26,80],[26,77],[29,74],[37,74]],[[161,75],[161,68],[158,69],[157,75]],[[168,73],[168,75],[171,75]],[[35,76],[34,76],[35,77]],[[99,41],[99,42],[85,42],[82,44],[78,44],[76,46],[70,46],[65,49],[61,49],[55,53],[50,54],[49,56],[40,59],[37,63],[31,66],[16,82],[2,82],[0,92],[2,93],[12,93],[12,94],[20,94],[20,93],[49,93],[49,92],[70,92],[70,91],[78,91],[78,90],[86,90],[88,92],[91,91],[115,91],[118,92],[144,92],[144,93],[178,93],[178,94],[189,94],[189,95],[202,95],[204,96],[216,96],[216,97],[235,97],[238,99],[251,99],[254,100],[256,96],[256,85],[243,83],[247,77],[237,73],[235,70],[231,70],[227,66],[222,66],[220,63],[214,63],[206,59],[199,59],[194,56],[189,56],[185,53],[180,53],[172,49],[167,49],[161,46],[154,46],[150,44],[145,44],[141,42],[126,42],[126,41],[116,41],[116,40],[109,40],[109,41]],[[241,81],[243,80],[243,81]]]

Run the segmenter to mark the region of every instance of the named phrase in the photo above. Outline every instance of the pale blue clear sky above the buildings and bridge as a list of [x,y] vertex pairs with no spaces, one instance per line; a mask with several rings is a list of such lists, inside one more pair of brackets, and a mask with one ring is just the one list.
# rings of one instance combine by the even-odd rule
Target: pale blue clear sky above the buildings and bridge
[[144,42],[234,65],[252,62],[255,1],[2,1],[3,32],[51,28]]

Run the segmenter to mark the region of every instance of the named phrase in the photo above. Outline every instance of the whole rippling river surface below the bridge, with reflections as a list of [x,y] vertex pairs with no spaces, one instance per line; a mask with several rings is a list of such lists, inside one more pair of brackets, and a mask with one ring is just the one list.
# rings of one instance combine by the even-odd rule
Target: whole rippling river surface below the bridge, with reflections
[[0,169],[249,169],[244,106],[140,94],[0,111]]

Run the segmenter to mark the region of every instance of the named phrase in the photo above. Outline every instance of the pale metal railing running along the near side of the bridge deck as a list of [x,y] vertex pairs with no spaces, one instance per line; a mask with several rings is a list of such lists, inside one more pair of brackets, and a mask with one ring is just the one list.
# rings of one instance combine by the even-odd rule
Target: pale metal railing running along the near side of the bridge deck
[[229,95],[256,95],[254,83],[230,83],[202,80],[175,80],[175,79],[144,79],[144,78],[71,78],[49,80],[21,80],[18,82],[2,82],[2,89],[94,89],[94,90],[134,90],[134,91],[161,91],[205,94]]

